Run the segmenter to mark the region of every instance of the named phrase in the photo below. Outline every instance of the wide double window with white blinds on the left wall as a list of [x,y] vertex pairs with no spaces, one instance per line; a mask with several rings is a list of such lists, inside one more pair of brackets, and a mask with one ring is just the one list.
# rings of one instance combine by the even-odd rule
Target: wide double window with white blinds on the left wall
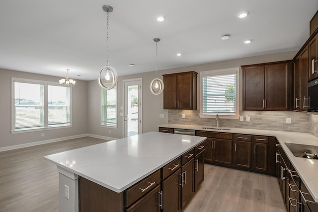
[[70,99],[58,83],[12,78],[12,133],[70,126]]

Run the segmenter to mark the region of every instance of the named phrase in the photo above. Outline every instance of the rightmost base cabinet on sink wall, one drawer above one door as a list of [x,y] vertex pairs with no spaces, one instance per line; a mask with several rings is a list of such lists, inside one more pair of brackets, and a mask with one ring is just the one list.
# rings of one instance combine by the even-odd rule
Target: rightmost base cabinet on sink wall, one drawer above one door
[[255,171],[267,172],[268,160],[268,137],[254,136],[253,140],[253,169]]

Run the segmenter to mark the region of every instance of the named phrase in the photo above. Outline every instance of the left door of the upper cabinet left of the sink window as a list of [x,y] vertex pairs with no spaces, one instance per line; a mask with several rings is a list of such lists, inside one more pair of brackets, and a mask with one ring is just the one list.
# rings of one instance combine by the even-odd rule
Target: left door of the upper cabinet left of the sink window
[[176,109],[177,76],[168,74],[163,76],[163,109]]

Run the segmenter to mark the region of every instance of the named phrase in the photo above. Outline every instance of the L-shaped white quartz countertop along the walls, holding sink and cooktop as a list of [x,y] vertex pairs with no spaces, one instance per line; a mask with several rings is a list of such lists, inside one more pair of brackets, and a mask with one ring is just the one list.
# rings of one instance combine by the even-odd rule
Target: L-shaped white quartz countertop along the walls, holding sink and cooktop
[[[208,126],[199,125],[181,125],[181,124],[163,124],[158,127],[165,128],[178,128],[178,129],[191,129],[200,131],[213,131],[224,133],[237,133],[237,134],[250,134],[250,135],[262,135],[276,137],[281,144],[283,150],[288,156],[289,160],[293,164],[294,168],[298,172],[300,178],[308,188],[309,192],[318,203],[318,160],[307,159],[302,157],[295,157],[285,143],[299,143],[307,145],[317,145],[318,138],[308,133],[293,133],[282,131],[269,131],[269,130],[255,130],[255,129],[243,129],[243,128],[225,128],[230,130],[211,130],[202,129]],[[209,128],[214,128],[213,126]]]

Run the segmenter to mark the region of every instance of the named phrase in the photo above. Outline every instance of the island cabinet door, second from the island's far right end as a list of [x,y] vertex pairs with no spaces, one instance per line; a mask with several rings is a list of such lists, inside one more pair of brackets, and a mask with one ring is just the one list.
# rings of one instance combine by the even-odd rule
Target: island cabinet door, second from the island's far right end
[[194,159],[181,167],[181,209],[185,207],[193,195]]

